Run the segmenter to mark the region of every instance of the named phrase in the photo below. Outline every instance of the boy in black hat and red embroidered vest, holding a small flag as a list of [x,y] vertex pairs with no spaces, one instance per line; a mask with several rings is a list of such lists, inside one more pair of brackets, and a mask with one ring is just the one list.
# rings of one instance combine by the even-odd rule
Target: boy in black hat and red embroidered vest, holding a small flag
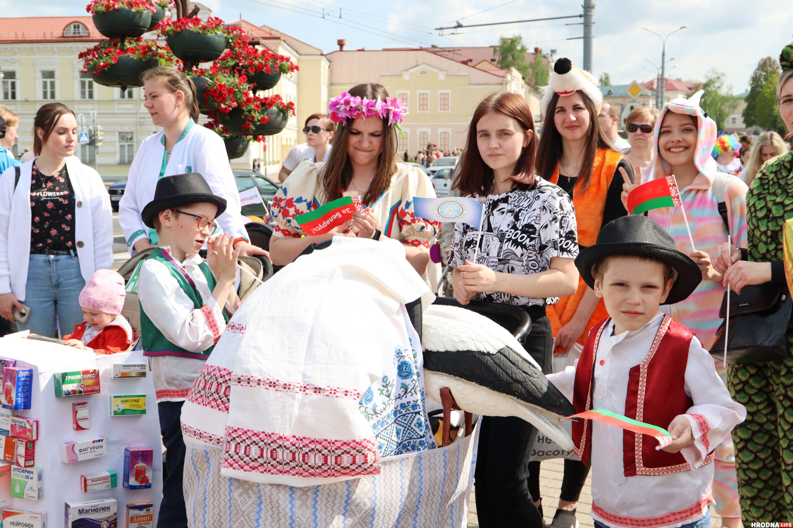
[[609,318],[592,328],[575,367],[548,378],[577,412],[606,409],[665,427],[672,443],[592,420],[573,422],[574,450],[592,464],[592,518],[603,526],[707,528],[713,449],[746,416],[693,332],[658,310],[702,280],[653,220],[609,222],[576,266]]

